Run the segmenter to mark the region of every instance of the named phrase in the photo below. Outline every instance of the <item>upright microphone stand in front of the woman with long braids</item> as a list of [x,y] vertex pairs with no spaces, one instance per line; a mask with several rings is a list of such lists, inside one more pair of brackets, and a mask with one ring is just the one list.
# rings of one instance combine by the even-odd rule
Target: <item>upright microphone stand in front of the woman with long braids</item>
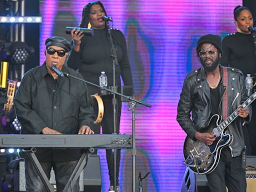
[[[113,44],[113,39],[112,39],[112,35],[111,35],[111,29],[109,27],[109,23],[106,20],[106,27],[107,27],[107,33],[109,36],[109,40],[111,43],[111,58],[112,58],[112,67],[113,67],[113,90],[116,91],[116,86],[115,86],[115,65],[118,65],[118,60],[117,60],[117,53],[116,53],[116,49],[114,48],[114,44]],[[113,98],[112,98],[112,104],[113,104],[113,133],[116,133],[116,96],[115,94],[113,94]],[[114,160],[114,191],[116,191],[116,149],[114,149],[113,151],[113,160]]]

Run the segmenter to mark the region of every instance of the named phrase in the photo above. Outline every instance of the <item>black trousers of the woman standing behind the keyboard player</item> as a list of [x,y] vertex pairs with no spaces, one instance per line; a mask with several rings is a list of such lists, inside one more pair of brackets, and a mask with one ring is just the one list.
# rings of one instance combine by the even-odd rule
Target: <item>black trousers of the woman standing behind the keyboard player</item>
[[[101,96],[104,104],[104,114],[100,124],[95,125],[93,131],[98,134],[100,133],[100,125],[102,127],[103,134],[113,133],[113,104],[112,104],[112,95]],[[97,115],[97,103],[93,102],[94,113]],[[117,110],[116,110],[116,133],[119,133],[119,124],[120,124],[120,114],[121,114],[121,101],[117,101]],[[114,170],[113,170],[113,153],[112,150],[106,150],[106,161],[108,166],[108,174],[110,185],[114,185]],[[120,150],[116,150],[116,185],[118,185],[118,176],[119,176],[119,165],[120,165]]]

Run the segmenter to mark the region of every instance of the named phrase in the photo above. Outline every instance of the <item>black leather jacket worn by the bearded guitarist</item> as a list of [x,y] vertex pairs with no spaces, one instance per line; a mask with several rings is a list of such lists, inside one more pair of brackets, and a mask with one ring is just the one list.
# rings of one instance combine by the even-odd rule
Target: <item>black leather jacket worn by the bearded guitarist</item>
[[[222,115],[222,95],[226,87],[222,84],[223,71],[221,71],[220,95],[221,101],[218,106],[218,114]],[[247,99],[244,78],[242,72],[236,68],[227,67],[228,71],[228,115],[231,114],[238,104]],[[238,96],[237,96],[238,95]],[[246,119],[237,117],[228,125],[227,133],[233,136],[230,145],[231,155],[238,156],[244,149],[244,139],[242,133],[242,123],[248,123],[251,117],[251,106],[249,115]],[[192,112],[192,120],[190,119]],[[177,121],[182,129],[194,139],[194,133],[206,128],[210,119],[210,89],[206,81],[206,72],[203,67],[190,72],[185,80],[180,93],[180,99],[177,107]]]

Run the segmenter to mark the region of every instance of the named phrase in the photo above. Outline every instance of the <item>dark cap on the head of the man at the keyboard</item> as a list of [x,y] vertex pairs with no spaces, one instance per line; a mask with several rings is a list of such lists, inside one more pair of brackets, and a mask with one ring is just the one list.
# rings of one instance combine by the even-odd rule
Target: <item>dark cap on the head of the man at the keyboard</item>
[[45,45],[46,45],[46,48],[48,48],[49,46],[59,46],[65,49],[66,52],[71,50],[70,42],[68,42],[68,40],[66,40],[61,36],[52,36],[47,38],[45,40]]

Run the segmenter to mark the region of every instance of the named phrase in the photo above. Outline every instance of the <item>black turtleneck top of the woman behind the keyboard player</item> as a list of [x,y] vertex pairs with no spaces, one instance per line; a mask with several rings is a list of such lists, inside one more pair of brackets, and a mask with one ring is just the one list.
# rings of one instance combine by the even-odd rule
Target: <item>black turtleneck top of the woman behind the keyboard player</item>
[[[111,29],[114,46],[117,49],[118,65],[115,65],[115,83],[120,85],[120,75],[124,85],[132,86],[131,70],[127,56],[125,38],[120,30]],[[85,80],[98,84],[100,71],[105,71],[107,85],[113,85],[111,43],[106,28],[94,29],[93,36],[81,39],[80,50],[71,50],[67,65],[79,72]],[[98,88],[87,84],[91,94],[98,93]]]

